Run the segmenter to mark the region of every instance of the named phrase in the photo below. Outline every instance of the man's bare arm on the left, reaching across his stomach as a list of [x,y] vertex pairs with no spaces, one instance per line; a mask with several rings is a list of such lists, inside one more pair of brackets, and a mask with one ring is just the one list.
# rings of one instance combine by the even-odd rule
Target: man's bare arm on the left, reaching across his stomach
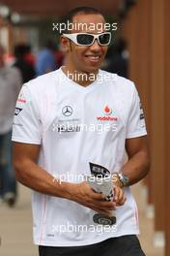
[[39,144],[13,143],[16,179],[23,185],[42,194],[74,201],[87,208],[109,214],[115,202],[105,202],[104,196],[93,191],[87,182],[61,182],[37,165]]

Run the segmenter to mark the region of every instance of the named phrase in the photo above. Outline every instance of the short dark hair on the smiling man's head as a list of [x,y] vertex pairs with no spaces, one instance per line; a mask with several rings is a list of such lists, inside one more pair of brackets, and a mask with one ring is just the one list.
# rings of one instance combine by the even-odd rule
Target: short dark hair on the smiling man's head
[[[81,7],[76,7],[72,9],[67,16],[65,16],[64,23],[67,24],[68,22],[72,22],[73,17],[76,16],[77,14],[82,14],[82,15],[100,15],[103,16],[103,14],[96,8],[94,7],[88,7],[88,6],[81,6]],[[70,33],[68,29],[63,31],[63,33]]]

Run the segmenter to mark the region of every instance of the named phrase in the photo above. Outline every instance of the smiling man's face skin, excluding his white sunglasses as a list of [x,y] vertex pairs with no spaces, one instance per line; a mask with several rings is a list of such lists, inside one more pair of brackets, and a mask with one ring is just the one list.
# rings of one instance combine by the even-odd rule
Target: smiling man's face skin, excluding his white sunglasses
[[[74,29],[71,33],[90,33],[100,34],[101,26],[104,29],[105,20],[101,15],[77,15],[73,17],[73,24],[85,23],[86,26],[79,26],[80,29]],[[95,24],[92,29],[92,23]],[[99,27],[98,27],[99,24]],[[74,26],[75,27],[75,26]],[[68,65],[72,71],[83,72],[83,73],[97,73],[101,63],[105,57],[108,47],[99,46],[96,40],[92,46],[77,46],[69,39],[68,42]]]

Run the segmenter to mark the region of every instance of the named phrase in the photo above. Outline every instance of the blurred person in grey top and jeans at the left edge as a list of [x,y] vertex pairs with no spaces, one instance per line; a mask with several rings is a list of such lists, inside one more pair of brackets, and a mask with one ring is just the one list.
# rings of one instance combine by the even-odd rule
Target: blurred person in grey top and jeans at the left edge
[[20,88],[20,72],[5,65],[4,48],[0,46],[0,198],[10,207],[16,200],[11,136],[14,106]]

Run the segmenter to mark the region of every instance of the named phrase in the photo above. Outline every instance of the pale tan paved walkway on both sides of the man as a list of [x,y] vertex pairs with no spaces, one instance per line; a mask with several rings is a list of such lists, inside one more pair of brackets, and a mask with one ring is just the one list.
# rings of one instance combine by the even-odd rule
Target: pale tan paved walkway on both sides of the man
[[[147,256],[164,256],[162,249],[153,246],[153,221],[145,217],[145,202],[141,198],[141,186],[136,185],[133,191],[139,203],[141,226],[139,239],[142,247]],[[32,242],[30,191],[21,185],[15,208],[0,205],[0,238],[1,256],[38,256],[37,247]]]

